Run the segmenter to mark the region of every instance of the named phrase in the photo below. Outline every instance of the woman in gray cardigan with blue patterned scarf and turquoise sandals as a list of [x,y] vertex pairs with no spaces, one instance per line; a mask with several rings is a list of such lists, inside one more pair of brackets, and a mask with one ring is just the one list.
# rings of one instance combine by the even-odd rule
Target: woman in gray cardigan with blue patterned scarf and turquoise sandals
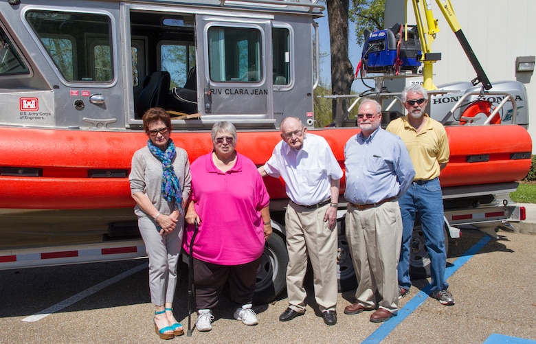
[[163,108],[143,116],[147,146],[132,157],[129,175],[137,205],[139,232],[149,257],[150,299],[155,305],[155,332],[161,339],[183,334],[173,315],[177,264],[184,228],[184,204],[191,189],[188,154],[170,138],[171,119]]

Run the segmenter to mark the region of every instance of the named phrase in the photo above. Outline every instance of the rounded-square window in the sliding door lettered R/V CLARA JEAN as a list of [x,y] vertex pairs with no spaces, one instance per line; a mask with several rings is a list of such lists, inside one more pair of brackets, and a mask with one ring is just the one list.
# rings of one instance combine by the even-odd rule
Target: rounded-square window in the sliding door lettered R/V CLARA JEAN
[[262,80],[260,31],[249,28],[210,27],[208,59],[214,82]]

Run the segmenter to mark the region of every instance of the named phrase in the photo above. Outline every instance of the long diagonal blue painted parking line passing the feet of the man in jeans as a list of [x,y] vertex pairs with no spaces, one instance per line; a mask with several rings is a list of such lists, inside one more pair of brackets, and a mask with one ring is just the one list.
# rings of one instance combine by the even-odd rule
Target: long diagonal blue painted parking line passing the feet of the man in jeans
[[[486,244],[491,240],[489,236],[484,236],[484,238],[480,239],[471,249],[467,250],[461,257],[459,257],[457,260],[454,261],[454,263],[451,266],[448,266],[445,269],[445,279],[448,279],[451,277],[452,274],[454,274],[460,267],[462,267],[463,264],[467,263],[473,255],[478,253],[482,247],[486,246]],[[381,324],[375,332],[372,332],[370,336],[368,336],[367,339],[365,339],[362,343],[380,343],[383,341],[383,339],[386,339],[386,336],[388,336],[394,328],[399,325],[402,321],[404,321],[405,318],[407,318],[414,310],[418,308],[418,306],[421,306],[424,301],[429,297],[428,294],[430,293],[430,284],[427,284],[423,290],[421,290],[417,295],[415,295],[410,301],[408,301],[403,308],[399,309],[399,312],[397,314],[397,317],[392,317],[385,323]]]

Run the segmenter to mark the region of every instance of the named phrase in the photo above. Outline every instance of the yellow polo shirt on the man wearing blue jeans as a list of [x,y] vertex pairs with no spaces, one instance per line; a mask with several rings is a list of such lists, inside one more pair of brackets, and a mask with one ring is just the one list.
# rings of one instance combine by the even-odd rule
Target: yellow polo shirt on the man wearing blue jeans
[[407,120],[407,115],[394,119],[386,130],[399,135],[410,152],[415,181],[430,181],[440,174],[439,165],[449,161],[449,139],[443,124],[428,117],[425,128],[417,133]]

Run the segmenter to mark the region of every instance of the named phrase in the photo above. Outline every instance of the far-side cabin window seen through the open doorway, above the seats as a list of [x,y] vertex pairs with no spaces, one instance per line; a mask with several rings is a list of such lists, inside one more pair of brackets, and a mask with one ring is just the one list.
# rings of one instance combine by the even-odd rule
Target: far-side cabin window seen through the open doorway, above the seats
[[184,87],[188,71],[195,66],[195,46],[188,43],[167,42],[160,46],[161,70],[171,77],[170,89]]

